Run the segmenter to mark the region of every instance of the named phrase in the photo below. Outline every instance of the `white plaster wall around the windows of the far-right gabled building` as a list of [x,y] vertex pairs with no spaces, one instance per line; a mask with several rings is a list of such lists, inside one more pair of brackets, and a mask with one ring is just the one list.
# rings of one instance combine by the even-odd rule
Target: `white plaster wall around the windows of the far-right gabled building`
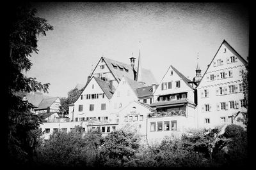
[[[224,48],[226,48],[226,52],[224,53]],[[216,54],[215,59],[212,61],[212,64],[209,66],[209,69],[207,70],[207,73],[205,73],[204,78],[202,78],[202,81],[200,85],[197,87],[198,89],[198,127],[199,128],[209,128],[214,127],[216,125],[221,124],[221,117],[226,118],[227,124],[231,124],[231,122],[228,122],[228,117],[232,116],[232,114],[237,113],[238,111],[244,110],[244,108],[241,108],[240,101],[241,99],[244,99],[243,92],[239,92],[239,86],[238,90],[234,94],[225,94],[222,96],[216,96],[216,88],[219,87],[227,87],[228,85],[239,85],[239,83],[243,83],[243,78],[241,76],[241,69],[245,70],[243,62],[238,59],[237,62],[234,63],[227,63],[227,58],[234,55],[230,50],[228,50],[227,46],[224,44],[221,45],[220,50]],[[214,62],[216,62],[218,59],[223,60],[223,65],[221,66],[213,66]],[[216,80],[210,80],[209,77],[210,74],[220,74],[222,71],[229,71],[232,70],[232,77],[229,77],[227,74],[227,78],[223,79],[216,79]],[[216,76],[217,78],[217,76]],[[209,97],[202,97],[202,92],[204,92],[204,89],[209,90]],[[227,92],[229,89],[227,89]],[[239,105],[237,109],[230,109],[229,101],[238,101]],[[217,110],[217,103],[220,102],[228,102],[228,110]],[[204,104],[210,104],[211,111],[204,111],[202,108]],[[205,118],[210,118],[210,124],[205,123]],[[236,123],[234,121],[234,123]]]

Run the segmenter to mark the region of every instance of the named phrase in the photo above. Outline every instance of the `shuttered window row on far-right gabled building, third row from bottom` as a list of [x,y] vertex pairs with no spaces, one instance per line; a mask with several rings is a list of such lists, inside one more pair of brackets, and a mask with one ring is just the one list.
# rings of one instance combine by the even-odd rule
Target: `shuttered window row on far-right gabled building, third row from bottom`
[[[228,85],[223,87],[216,87],[216,96],[244,92],[244,89],[245,89],[245,86],[243,83]],[[204,97],[209,97],[209,89],[204,89],[201,92],[201,98],[204,98]]]

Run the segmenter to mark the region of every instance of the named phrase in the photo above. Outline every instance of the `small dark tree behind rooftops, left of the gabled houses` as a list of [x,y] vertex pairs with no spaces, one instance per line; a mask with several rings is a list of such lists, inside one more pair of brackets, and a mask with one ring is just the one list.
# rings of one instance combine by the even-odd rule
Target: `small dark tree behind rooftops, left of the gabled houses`
[[68,92],[68,97],[61,97],[60,99],[60,113],[61,115],[68,115],[68,104],[75,103],[79,96],[82,94],[84,88],[79,89],[72,89]]

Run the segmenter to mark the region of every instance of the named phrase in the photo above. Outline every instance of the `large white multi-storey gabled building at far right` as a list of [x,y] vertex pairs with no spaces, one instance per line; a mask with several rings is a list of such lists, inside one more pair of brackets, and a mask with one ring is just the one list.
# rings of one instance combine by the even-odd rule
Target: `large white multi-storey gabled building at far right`
[[246,60],[223,40],[197,87],[198,128],[238,124],[233,115],[246,111],[242,78],[245,64]]

